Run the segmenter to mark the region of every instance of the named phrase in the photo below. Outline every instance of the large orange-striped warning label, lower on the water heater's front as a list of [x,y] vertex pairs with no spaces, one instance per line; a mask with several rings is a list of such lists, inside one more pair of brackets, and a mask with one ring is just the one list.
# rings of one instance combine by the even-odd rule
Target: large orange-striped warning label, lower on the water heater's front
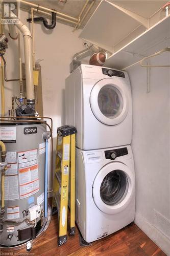
[[38,164],[19,168],[20,199],[30,197],[39,191]]

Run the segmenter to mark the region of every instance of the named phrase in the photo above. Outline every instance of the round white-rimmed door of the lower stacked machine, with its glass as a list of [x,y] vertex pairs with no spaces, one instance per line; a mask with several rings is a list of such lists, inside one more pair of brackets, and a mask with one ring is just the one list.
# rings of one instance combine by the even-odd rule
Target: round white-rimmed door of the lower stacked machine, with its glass
[[95,205],[106,214],[117,214],[130,203],[134,194],[134,175],[123,163],[105,165],[96,175],[92,195]]

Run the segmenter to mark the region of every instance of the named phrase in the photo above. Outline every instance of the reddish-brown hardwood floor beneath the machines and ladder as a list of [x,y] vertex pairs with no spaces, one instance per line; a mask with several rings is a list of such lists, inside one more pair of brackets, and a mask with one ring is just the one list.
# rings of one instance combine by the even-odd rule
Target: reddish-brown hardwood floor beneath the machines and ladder
[[[110,236],[93,242],[90,246],[80,246],[79,231],[73,237],[67,237],[67,242],[62,246],[57,246],[58,217],[52,217],[50,226],[44,234],[33,244],[30,255],[61,255],[61,256],[163,256],[166,255],[161,249],[150,240],[136,224],[131,224]],[[15,251],[15,255],[29,255],[25,249]]]

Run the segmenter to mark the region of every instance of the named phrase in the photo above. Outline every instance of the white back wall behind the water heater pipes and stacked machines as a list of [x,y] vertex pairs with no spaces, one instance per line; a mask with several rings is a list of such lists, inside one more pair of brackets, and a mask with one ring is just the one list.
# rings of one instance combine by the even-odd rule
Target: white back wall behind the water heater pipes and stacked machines
[[[27,18],[28,13],[21,11],[21,21],[29,26],[26,21]],[[36,60],[43,59],[40,62],[43,111],[44,116],[53,118],[54,153],[57,127],[65,124],[65,78],[69,75],[69,63],[75,53],[84,49],[83,41],[78,38],[80,31],[72,33],[72,30],[72,27],[61,23],[57,23],[53,30],[47,30],[43,25],[35,24]],[[7,35],[8,27],[5,32]],[[8,79],[18,77],[17,54],[17,40],[14,41],[9,38],[9,49],[6,50],[5,54]],[[24,61],[24,58],[22,58],[22,61]],[[5,82],[6,114],[11,109],[11,97],[19,96],[18,93],[18,82]],[[51,174],[49,175],[49,187],[52,188]]]

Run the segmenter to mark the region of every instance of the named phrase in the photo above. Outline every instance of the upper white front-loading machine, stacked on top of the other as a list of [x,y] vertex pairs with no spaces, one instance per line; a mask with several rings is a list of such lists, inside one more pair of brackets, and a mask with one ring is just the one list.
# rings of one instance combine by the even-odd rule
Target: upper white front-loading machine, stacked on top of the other
[[127,72],[81,65],[66,79],[66,124],[82,150],[131,143],[132,98]]

